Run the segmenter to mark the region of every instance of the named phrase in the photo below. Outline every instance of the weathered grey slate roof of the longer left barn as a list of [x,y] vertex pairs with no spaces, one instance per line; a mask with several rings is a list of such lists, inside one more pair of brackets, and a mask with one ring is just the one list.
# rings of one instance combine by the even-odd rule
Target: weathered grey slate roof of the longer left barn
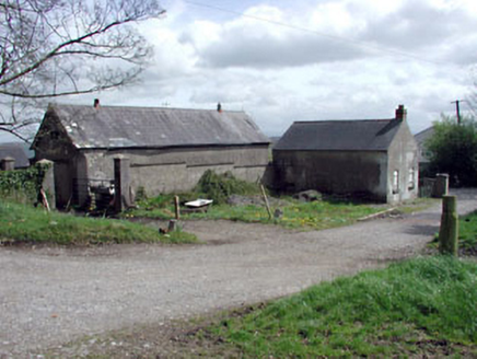
[[244,112],[50,105],[77,148],[269,143]]

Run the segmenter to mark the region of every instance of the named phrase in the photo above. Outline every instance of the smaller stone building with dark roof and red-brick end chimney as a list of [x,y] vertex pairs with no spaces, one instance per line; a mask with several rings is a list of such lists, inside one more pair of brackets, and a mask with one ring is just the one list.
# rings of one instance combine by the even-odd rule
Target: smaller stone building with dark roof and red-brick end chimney
[[296,121],[274,148],[275,186],[384,202],[418,196],[418,147],[400,105],[395,118]]

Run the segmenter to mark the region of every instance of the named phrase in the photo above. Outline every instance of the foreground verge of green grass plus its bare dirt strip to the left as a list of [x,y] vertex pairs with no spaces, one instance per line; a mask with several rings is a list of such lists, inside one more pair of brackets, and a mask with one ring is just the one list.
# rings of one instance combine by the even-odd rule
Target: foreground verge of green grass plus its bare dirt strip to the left
[[88,358],[443,358],[477,356],[477,264],[396,263],[189,322],[135,326],[54,349]]

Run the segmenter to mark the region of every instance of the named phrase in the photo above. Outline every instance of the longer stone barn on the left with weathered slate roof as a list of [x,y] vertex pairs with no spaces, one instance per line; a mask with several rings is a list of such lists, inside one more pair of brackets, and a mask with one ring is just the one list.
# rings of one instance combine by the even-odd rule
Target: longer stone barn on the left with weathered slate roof
[[130,190],[149,196],[191,189],[206,170],[260,180],[269,139],[244,112],[49,105],[32,148],[54,161],[57,206],[83,205],[91,186],[129,164]]

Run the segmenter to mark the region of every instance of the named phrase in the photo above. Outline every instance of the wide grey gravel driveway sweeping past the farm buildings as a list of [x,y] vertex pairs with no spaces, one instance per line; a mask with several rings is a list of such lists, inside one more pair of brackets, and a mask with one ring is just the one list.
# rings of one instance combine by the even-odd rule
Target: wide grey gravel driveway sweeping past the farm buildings
[[[477,208],[459,190],[461,213]],[[187,222],[207,245],[0,248],[0,358],[137,323],[164,322],[300,291],[419,252],[440,206],[351,227],[294,232]]]

